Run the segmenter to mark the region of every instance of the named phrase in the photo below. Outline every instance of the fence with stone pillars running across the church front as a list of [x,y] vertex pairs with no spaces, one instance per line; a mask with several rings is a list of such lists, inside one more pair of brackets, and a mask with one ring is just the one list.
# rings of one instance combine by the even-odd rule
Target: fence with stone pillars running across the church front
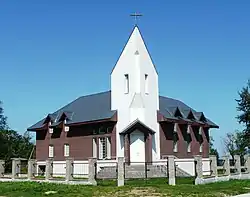
[[96,185],[98,180],[112,179],[117,181],[118,186],[122,186],[130,179],[163,178],[168,180],[169,185],[175,185],[178,177],[193,177],[195,184],[205,184],[250,179],[250,156],[241,158],[236,155],[234,159],[224,156],[220,160],[215,156],[206,159],[199,155],[190,159],[168,156],[167,159],[153,162],[125,162],[123,157],[103,161],[95,158],[88,161],[48,159],[46,162],[15,158],[11,170],[11,174],[6,174],[5,162],[0,160],[0,181],[39,180]]

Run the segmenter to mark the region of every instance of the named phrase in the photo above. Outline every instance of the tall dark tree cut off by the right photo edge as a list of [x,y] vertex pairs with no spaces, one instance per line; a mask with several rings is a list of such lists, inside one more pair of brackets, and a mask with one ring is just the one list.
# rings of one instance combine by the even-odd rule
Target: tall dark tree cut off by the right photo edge
[[244,141],[245,144],[250,148],[250,80],[241,91],[238,92],[240,99],[236,99],[238,104],[237,111],[240,114],[236,117],[240,124],[244,125]]

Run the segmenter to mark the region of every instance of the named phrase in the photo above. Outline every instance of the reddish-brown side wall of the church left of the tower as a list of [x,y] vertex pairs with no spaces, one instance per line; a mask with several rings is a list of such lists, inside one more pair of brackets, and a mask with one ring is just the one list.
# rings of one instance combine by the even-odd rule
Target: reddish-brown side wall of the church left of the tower
[[[114,124],[114,123],[112,123]],[[94,124],[93,124],[94,125]],[[64,132],[62,129],[54,129],[53,134],[47,130],[36,132],[36,159],[45,161],[49,157],[49,145],[54,146],[55,161],[64,161],[64,144],[69,145],[69,157],[74,160],[87,160],[93,157],[93,138],[111,137],[111,158],[116,157],[116,127],[113,125],[113,130],[109,134],[97,135],[93,134],[93,127],[89,125],[72,126],[69,132]],[[97,140],[98,141],[98,140]],[[97,156],[98,156],[97,144]]]

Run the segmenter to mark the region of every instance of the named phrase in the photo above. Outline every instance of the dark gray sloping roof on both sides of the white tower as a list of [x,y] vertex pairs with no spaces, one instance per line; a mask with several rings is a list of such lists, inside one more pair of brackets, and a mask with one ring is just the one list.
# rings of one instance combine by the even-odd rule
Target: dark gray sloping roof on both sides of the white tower
[[[159,96],[159,112],[166,118],[177,119],[174,117],[174,113],[178,107],[183,114],[183,118],[187,118],[188,112],[192,110],[193,114],[197,118],[197,121],[202,115],[202,112],[196,112],[194,109],[184,104],[183,102]],[[111,91],[101,92],[97,94],[82,96],[68,105],[62,107],[58,111],[49,114],[43,120],[29,127],[28,130],[35,130],[41,128],[48,118],[52,120],[52,126],[58,125],[61,116],[66,116],[67,124],[80,123],[87,121],[95,121],[111,118],[116,111],[111,110]],[[206,118],[207,119],[207,118]],[[212,121],[207,119],[207,123],[211,126],[218,127]]]

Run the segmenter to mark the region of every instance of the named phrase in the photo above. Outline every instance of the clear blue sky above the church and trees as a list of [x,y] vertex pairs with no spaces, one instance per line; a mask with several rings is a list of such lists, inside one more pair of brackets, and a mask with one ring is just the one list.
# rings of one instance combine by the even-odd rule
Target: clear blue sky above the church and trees
[[223,152],[241,127],[237,91],[250,77],[250,2],[0,2],[0,100],[12,129],[26,128],[79,96],[108,90],[134,20],[159,72],[160,94],[204,111]]

